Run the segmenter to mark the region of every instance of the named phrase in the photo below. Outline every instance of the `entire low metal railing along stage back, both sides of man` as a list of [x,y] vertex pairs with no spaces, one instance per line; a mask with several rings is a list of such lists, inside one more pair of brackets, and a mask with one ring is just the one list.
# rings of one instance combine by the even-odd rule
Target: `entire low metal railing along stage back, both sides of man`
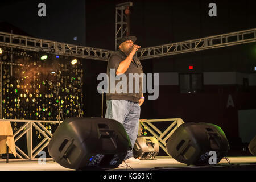
[[[37,158],[40,151],[43,151],[44,148],[46,148],[49,144],[49,141],[51,140],[52,133],[49,132],[49,130],[46,129],[46,127],[42,123],[62,123],[63,121],[48,121],[48,120],[27,120],[27,119],[0,119],[1,121],[10,121],[10,122],[24,122],[24,125],[22,125],[17,131],[15,131],[13,137],[14,142],[16,143],[20,138],[23,137],[23,135],[26,134],[26,143],[27,143],[27,152],[24,152],[19,146],[15,144],[16,148],[16,154],[19,159],[13,159],[13,160],[38,160]],[[154,122],[171,122],[170,126],[167,127],[163,132],[160,131],[155,125]],[[150,131],[150,133],[159,141],[159,146],[163,149],[164,152],[168,156],[167,150],[166,150],[166,142],[168,138],[174,133],[174,131],[184,123],[183,119],[181,118],[168,118],[168,119],[140,119],[139,120],[139,131],[142,127],[142,125],[147,127],[147,130]],[[33,146],[33,128],[38,130],[40,135],[42,134],[42,140],[36,145]],[[141,136],[140,132],[138,132],[138,135]],[[47,158],[48,160],[51,160],[52,158]],[[11,159],[12,160],[12,159]],[[1,160],[0,160],[1,161]]]

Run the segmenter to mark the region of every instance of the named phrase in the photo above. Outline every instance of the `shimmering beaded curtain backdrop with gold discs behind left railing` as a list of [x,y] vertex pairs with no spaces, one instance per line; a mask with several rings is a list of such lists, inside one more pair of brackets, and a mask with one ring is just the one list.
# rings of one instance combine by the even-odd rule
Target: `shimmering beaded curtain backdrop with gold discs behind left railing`
[[[2,50],[2,119],[62,121],[84,114],[79,110],[83,106],[81,61],[72,65],[71,56]],[[43,55],[48,58],[41,60]],[[56,123],[43,124],[51,133],[57,127]],[[12,122],[14,132],[22,125]]]

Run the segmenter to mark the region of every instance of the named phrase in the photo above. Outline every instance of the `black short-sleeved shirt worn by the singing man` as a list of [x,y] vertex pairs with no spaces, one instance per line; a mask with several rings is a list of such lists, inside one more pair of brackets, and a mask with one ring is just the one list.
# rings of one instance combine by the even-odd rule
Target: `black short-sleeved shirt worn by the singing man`
[[[143,71],[141,61],[139,61],[137,57],[133,56],[133,61],[131,61],[129,68],[125,73],[118,76],[116,75],[119,64],[125,60],[126,57],[126,54],[121,50],[115,51],[109,57],[107,68],[109,82],[108,93],[106,93],[106,100],[113,99],[139,102],[139,99],[142,97]],[[129,75],[129,73],[132,74]],[[126,79],[123,77],[126,77]],[[131,81],[133,81],[133,84]]]

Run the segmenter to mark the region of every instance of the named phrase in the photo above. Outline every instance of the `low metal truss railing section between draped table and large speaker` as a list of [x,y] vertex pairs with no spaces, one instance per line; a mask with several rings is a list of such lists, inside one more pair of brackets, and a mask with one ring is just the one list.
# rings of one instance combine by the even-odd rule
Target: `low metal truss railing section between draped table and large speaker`
[[[44,121],[44,120],[20,120],[20,119],[0,119],[0,121],[10,121],[10,122],[24,122],[24,125],[20,127],[14,133],[14,142],[16,147],[16,153],[19,159],[37,159],[39,152],[42,151],[45,147],[48,146],[49,141],[51,140],[52,134],[49,130],[42,125],[42,123],[59,123],[59,121]],[[62,123],[63,121],[60,121]],[[39,131],[42,135],[42,141],[38,143],[37,146],[33,146],[33,128]],[[27,142],[27,153],[22,151],[19,146],[16,145],[16,142],[26,134]],[[44,138],[43,138],[44,137]]]

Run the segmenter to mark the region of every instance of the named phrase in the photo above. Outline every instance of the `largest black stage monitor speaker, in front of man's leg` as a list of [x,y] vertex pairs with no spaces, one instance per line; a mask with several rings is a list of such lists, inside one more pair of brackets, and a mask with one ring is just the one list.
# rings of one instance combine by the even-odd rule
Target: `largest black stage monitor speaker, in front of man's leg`
[[130,139],[118,121],[106,118],[68,118],[55,130],[49,155],[61,166],[77,170],[116,168],[131,150]]

